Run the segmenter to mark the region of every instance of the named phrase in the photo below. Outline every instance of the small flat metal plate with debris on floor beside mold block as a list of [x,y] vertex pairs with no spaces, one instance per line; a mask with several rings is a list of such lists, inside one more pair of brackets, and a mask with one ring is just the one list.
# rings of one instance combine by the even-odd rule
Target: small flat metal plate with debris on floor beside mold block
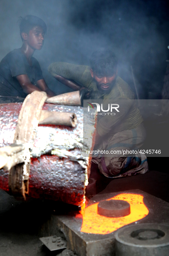
[[55,235],[51,237],[41,237],[39,239],[50,251],[65,249],[67,246],[67,242],[65,240]]

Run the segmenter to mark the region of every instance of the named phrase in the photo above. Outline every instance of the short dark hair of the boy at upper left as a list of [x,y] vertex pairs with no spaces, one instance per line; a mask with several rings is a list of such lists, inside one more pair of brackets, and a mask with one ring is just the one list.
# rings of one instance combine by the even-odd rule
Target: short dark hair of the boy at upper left
[[34,15],[26,15],[24,18],[19,17],[19,22],[20,22],[20,24],[19,24],[20,36],[21,36],[22,41],[23,41],[23,38],[21,35],[22,32],[29,34],[29,31],[35,26],[42,27],[44,33],[46,33],[47,27],[46,27],[45,22],[42,19],[40,19]]

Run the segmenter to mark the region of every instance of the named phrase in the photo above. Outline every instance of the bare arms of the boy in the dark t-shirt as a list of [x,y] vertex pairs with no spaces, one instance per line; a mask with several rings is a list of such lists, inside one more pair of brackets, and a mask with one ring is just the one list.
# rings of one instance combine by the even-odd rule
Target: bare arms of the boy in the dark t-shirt
[[44,79],[38,80],[37,81],[37,86],[35,86],[34,84],[31,83],[31,81],[29,80],[29,77],[24,74],[24,75],[19,75],[16,76],[17,80],[19,81],[19,84],[21,85],[21,87],[23,88],[23,91],[27,94],[33,92],[33,91],[45,91],[47,93],[48,97],[52,97],[55,96],[54,92],[52,92],[48,87],[47,84],[45,83]]

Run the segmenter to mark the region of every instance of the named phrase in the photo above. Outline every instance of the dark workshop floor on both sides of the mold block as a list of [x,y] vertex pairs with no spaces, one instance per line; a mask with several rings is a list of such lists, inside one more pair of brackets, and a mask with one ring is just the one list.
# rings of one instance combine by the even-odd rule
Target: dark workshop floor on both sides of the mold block
[[[97,179],[97,193],[118,192],[140,189],[169,202],[169,174],[150,171],[127,178],[108,179],[100,176],[96,166],[92,166],[91,177]],[[5,191],[0,190],[0,256],[54,256],[42,245],[39,228],[60,209],[77,210],[75,206],[51,201],[30,199],[17,201]],[[58,235],[56,233],[56,235]]]

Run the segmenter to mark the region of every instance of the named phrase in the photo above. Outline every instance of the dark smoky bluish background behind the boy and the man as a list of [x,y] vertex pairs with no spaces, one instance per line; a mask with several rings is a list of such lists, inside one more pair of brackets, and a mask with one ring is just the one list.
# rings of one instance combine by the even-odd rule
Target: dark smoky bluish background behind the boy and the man
[[52,62],[89,65],[95,49],[110,48],[118,56],[118,74],[139,97],[161,97],[169,58],[169,2],[164,0],[1,0],[0,60],[21,47],[19,16],[42,18],[45,43],[34,57],[48,86],[57,94],[70,91],[47,71]]

